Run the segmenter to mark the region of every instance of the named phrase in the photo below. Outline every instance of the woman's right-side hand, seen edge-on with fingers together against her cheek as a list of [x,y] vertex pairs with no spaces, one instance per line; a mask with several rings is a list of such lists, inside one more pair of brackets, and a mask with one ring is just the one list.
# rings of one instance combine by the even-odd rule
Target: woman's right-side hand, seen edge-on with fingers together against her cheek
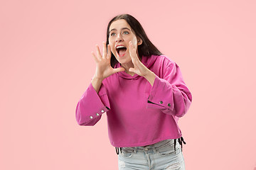
[[149,74],[151,71],[139,60],[131,41],[129,42],[129,54],[132,58],[132,63],[134,64],[134,68],[129,68],[129,72],[134,72],[139,76],[146,77],[146,74]]

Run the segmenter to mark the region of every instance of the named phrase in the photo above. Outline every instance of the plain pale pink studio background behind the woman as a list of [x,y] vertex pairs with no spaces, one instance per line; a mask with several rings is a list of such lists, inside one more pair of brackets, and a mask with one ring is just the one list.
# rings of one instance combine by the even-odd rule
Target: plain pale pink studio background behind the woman
[[[1,1],[0,169],[117,169],[106,115],[75,106],[119,13],[137,18],[193,94],[179,126],[186,169],[255,169],[255,1]],[[146,120],[146,118],[145,118]]]

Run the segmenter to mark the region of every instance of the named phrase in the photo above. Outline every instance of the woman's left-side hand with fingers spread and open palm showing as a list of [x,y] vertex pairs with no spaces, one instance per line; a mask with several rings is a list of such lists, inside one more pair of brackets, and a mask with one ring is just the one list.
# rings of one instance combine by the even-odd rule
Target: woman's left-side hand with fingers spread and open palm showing
[[103,45],[103,51],[102,55],[100,53],[100,47],[99,45],[96,45],[96,52],[97,55],[95,55],[94,52],[92,52],[92,56],[95,59],[95,62],[97,64],[96,72],[95,72],[95,79],[99,79],[100,81],[103,81],[103,79],[109,77],[110,75],[117,73],[117,72],[124,72],[123,67],[119,67],[117,69],[113,69],[110,64],[111,59],[111,50],[110,45],[107,45],[106,42],[102,42]]

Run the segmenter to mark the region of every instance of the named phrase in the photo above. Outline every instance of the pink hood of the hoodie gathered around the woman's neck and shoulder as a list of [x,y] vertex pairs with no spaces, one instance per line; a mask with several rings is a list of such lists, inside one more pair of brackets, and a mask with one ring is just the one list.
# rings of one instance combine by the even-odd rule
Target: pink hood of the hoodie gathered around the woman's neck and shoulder
[[[149,57],[142,56],[142,64],[150,69],[154,62],[156,62],[157,57],[158,55],[151,55]],[[114,65],[114,68],[119,67],[121,67],[121,64],[119,62]],[[139,79],[140,77],[138,74],[134,74],[134,76],[131,76],[130,74],[127,74],[127,72],[117,72],[117,74],[119,77],[122,77],[124,79]]]

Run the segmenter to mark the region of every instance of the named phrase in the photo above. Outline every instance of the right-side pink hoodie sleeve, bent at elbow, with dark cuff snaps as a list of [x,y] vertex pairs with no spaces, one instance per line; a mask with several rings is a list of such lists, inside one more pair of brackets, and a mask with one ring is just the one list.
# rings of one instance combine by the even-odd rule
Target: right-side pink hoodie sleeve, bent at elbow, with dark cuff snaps
[[146,108],[160,109],[163,113],[181,118],[191,105],[192,95],[183,81],[175,62],[163,67],[162,78],[156,75],[153,86],[147,82],[149,97]]

